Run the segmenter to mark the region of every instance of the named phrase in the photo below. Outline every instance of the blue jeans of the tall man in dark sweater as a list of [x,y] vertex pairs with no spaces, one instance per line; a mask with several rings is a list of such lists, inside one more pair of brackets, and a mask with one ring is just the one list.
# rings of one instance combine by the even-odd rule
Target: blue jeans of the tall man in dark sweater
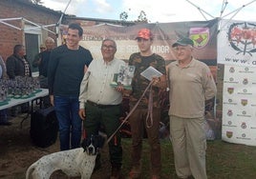
[[78,97],[54,96],[54,109],[59,126],[60,150],[79,148],[82,121],[78,115]]

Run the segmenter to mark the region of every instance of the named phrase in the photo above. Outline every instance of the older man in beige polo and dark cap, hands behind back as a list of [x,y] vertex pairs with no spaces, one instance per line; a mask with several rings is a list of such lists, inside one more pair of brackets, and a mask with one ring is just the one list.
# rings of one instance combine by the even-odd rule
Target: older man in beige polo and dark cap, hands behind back
[[187,37],[172,45],[177,61],[167,68],[170,134],[178,177],[206,179],[204,104],[217,89],[210,69],[192,56],[193,46]]

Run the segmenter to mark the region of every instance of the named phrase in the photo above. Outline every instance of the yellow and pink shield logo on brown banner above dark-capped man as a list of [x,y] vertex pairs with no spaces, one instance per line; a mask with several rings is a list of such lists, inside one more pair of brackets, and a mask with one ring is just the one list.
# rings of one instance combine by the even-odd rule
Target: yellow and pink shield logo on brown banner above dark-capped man
[[189,37],[194,41],[194,47],[203,49],[209,41],[209,28],[191,28]]

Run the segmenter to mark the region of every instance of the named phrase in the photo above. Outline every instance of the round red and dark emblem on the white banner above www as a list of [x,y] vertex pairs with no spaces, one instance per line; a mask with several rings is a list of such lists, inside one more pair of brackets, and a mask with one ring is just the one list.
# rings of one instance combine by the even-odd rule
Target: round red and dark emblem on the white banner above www
[[256,24],[252,23],[234,23],[229,27],[228,40],[233,50],[237,54],[243,55],[256,52]]

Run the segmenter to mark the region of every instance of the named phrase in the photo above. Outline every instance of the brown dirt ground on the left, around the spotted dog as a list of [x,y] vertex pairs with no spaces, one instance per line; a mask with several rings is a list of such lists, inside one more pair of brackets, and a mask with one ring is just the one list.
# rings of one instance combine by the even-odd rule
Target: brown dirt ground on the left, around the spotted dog
[[[30,137],[30,123],[27,119],[22,124],[21,121],[26,115],[20,115],[12,118],[11,126],[0,126],[0,178],[3,179],[25,179],[26,170],[33,162],[38,160],[43,155],[59,150],[59,142],[56,140],[52,146],[42,149],[32,145]],[[110,165],[107,157],[103,157],[101,163],[104,168],[96,170],[92,179],[108,178],[110,174]],[[55,171],[51,179],[68,178],[61,171]],[[80,178],[74,177],[73,179]]]

